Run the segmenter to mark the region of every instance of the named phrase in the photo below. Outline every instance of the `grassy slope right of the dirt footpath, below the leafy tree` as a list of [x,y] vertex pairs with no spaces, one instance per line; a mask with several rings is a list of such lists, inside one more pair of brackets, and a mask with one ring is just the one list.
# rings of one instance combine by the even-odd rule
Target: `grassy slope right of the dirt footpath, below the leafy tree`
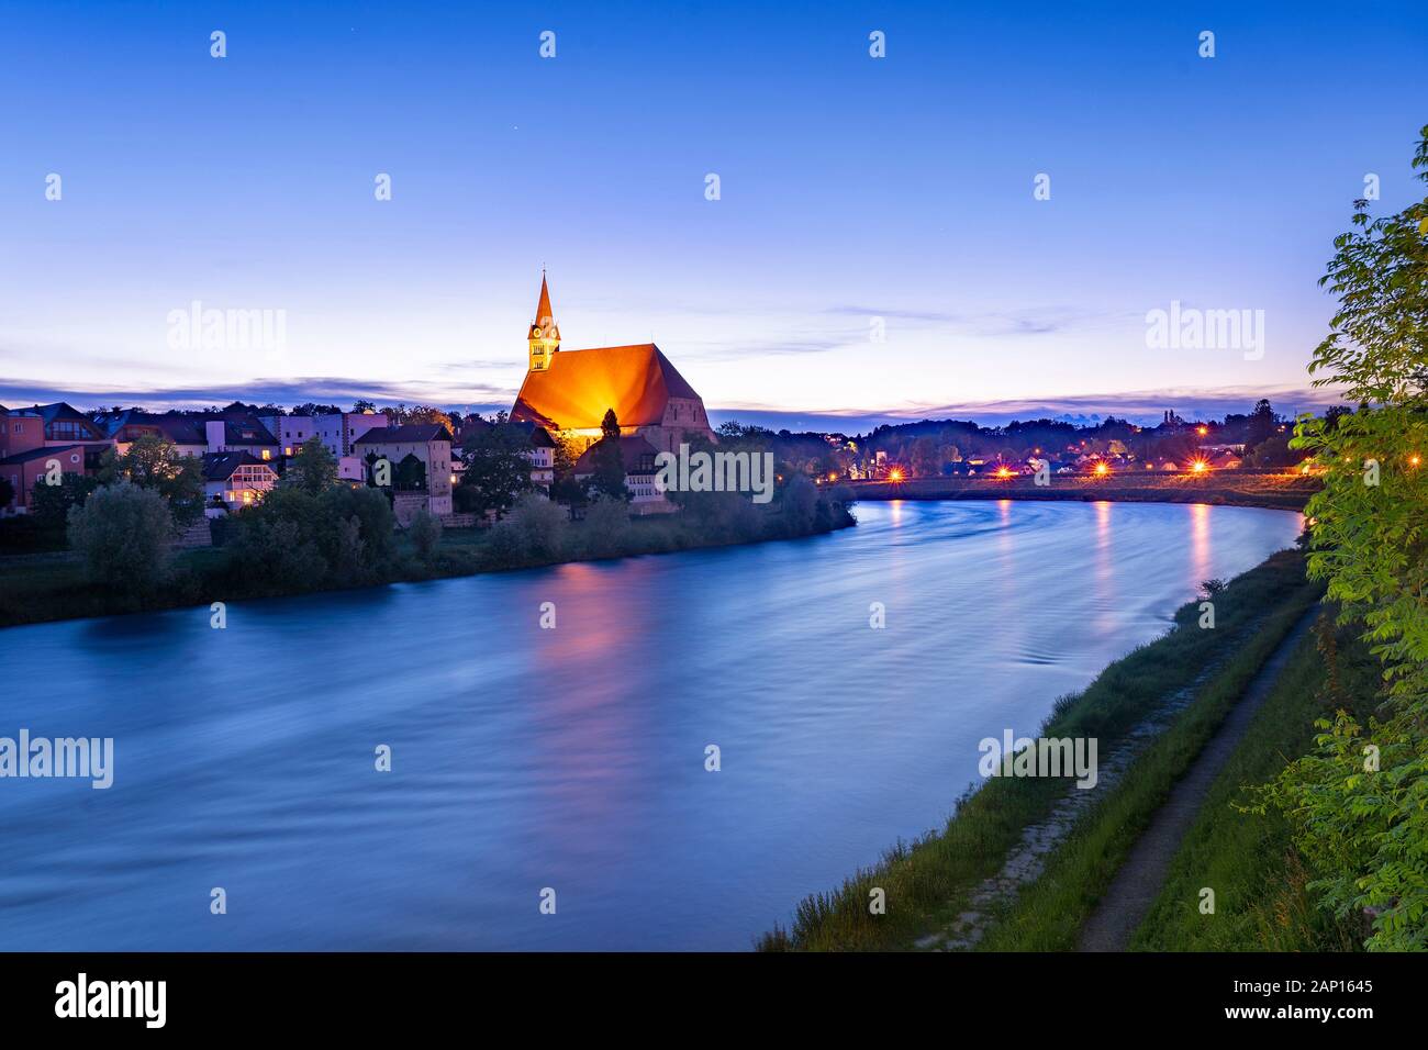
[[[1349,951],[1361,931],[1345,927],[1312,903],[1311,874],[1289,839],[1284,816],[1245,813],[1245,787],[1272,780],[1314,741],[1314,720],[1347,707],[1364,717],[1377,703],[1378,663],[1347,629],[1338,629],[1328,659],[1344,684],[1328,694],[1324,637],[1335,630],[1321,617],[1255,714],[1244,740],[1211,786],[1194,827],[1171,863],[1165,887],[1131,940],[1142,951]],[[1201,887],[1215,890],[1215,911],[1201,914]]]

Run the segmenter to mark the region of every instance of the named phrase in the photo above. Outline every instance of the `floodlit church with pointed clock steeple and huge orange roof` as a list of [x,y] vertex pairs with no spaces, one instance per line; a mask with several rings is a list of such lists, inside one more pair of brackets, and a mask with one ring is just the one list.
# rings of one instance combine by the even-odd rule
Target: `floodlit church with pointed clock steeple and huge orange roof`
[[545,274],[531,321],[530,364],[511,419],[588,444],[614,409],[624,437],[643,437],[655,451],[677,453],[695,436],[717,440],[704,400],[654,343],[561,350]]

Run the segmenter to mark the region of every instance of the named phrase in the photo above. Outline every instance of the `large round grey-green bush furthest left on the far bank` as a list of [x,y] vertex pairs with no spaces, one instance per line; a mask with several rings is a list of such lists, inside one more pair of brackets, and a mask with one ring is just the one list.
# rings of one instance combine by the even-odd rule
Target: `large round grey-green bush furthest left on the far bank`
[[173,517],[150,489],[129,481],[99,489],[70,509],[69,539],[93,583],[143,593],[169,576]]

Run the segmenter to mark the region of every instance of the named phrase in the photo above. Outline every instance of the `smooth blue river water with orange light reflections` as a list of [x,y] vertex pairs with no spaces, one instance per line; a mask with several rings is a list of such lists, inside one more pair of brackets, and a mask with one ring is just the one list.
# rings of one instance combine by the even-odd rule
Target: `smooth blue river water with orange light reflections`
[[196,609],[0,631],[0,736],[116,741],[109,790],[0,780],[0,950],[747,949],[940,826],[978,740],[1034,733],[1301,527],[1110,503],[858,517],[234,603],[226,630]]

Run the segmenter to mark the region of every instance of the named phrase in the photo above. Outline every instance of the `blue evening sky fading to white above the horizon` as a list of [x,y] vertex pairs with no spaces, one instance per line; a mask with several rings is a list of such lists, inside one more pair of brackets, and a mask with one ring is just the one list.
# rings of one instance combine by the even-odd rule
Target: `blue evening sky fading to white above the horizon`
[[[1305,407],[1365,174],[1422,196],[1421,3],[298,7],[0,7],[0,401],[508,404],[544,264],[725,414]],[[286,339],[176,349],[194,300]]]

